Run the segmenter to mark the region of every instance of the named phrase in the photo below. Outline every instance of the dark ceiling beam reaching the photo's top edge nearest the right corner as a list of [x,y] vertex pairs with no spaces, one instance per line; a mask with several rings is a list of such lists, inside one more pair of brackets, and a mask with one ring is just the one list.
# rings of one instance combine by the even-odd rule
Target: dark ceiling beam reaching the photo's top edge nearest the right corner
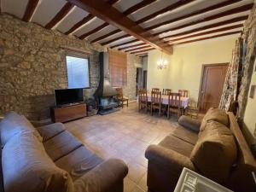
[[222,3],[214,4],[214,5],[210,6],[210,7],[205,8],[205,9],[200,9],[200,10],[197,10],[195,12],[192,12],[189,15],[183,15],[183,16],[174,18],[172,20],[166,20],[166,21],[160,22],[160,23],[158,23],[156,25],[148,26],[145,29],[146,30],[152,30],[152,29],[158,28],[160,26],[171,24],[172,22],[177,22],[179,20],[184,20],[184,19],[187,19],[187,18],[192,17],[192,16],[205,14],[205,13],[207,13],[209,11],[212,11],[212,10],[215,10],[215,9],[220,9],[220,8],[229,6],[230,4],[234,4],[234,3],[237,3],[237,2],[241,2],[241,1],[242,0],[228,0],[228,1],[225,1],[225,2],[222,2]]

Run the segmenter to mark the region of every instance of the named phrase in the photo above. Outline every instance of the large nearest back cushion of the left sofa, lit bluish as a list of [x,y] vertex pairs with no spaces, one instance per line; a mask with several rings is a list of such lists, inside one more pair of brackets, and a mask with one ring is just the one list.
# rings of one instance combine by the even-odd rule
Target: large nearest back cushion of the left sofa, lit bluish
[[3,148],[5,192],[66,192],[73,189],[68,173],[55,166],[31,132],[15,135]]

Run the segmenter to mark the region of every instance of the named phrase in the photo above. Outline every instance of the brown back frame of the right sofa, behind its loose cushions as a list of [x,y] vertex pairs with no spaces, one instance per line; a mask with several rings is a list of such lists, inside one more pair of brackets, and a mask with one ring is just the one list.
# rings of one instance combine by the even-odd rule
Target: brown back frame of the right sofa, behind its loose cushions
[[254,192],[256,183],[253,180],[252,172],[256,172],[256,161],[242,135],[241,129],[237,124],[236,117],[233,113],[228,112],[230,119],[230,131],[232,131],[238,148],[236,166],[230,174],[228,185],[234,191]]

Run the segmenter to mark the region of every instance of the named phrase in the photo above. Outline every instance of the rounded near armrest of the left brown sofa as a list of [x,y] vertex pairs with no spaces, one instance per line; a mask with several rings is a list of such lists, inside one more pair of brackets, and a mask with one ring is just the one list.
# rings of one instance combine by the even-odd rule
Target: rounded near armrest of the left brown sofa
[[127,173],[124,161],[109,159],[75,180],[74,188],[76,192],[121,192]]

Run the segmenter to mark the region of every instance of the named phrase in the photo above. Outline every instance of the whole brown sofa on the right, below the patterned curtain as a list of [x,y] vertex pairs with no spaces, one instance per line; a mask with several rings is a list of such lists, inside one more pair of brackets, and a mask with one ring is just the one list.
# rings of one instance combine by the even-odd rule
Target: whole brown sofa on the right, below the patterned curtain
[[234,191],[255,191],[256,163],[233,113],[210,108],[202,121],[182,116],[178,122],[172,134],[146,150],[150,191],[173,191],[183,167]]

